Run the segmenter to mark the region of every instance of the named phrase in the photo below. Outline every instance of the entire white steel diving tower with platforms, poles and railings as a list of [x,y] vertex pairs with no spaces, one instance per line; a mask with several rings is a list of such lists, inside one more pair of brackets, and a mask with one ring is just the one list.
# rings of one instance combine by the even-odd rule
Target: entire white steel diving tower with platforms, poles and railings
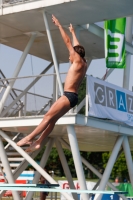
[[[63,84],[59,72],[59,64],[68,62],[68,51],[58,28],[52,24],[51,15],[54,14],[59,19],[68,35],[70,34],[68,30],[69,24],[72,23],[74,25],[79,41],[86,50],[88,68],[93,59],[104,58],[104,30],[95,23],[126,17],[127,68],[124,69],[123,87],[129,89],[130,62],[131,55],[133,54],[132,4],[132,0],[119,0],[117,2],[115,0],[107,2],[104,0],[1,1],[0,42],[22,51],[22,56],[20,57],[11,79],[7,80],[1,72],[0,157],[8,183],[13,183],[30,163],[38,171],[34,177],[33,183],[38,182],[41,174],[51,184],[55,184],[56,181],[43,170],[51,148],[55,145],[71,189],[74,189],[74,184],[67,160],[63,153],[63,148],[72,151],[77,178],[82,190],[87,189],[82,163],[92,170],[99,179],[101,179],[98,190],[104,190],[106,184],[113,190],[116,190],[108,180],[119,151],[121,147],[123,147],[130,180],[133,186],[133,161],[131,157],[131,150],[133,148],[133,128],[132,126],[128,126],[118,121],[108,119],[103,120],[88,116],[87,93],[83,101],[77,107],[71,109],[66,115],[57,121],[52,133],[43,141],[43,145],[46,145],[46,150],[44,151],[43,157],[40,161],[40,166],[34,161],[34,158],[42,148],[28,155],[14,142],[20,134],[23,134],[23,136],[29,134],[41,122],[43,115],[45,114],[45,112],[43,112],[45,108],[47,106],[50,107],[51,104],[57,100],[58,96],[63,94]],[[18,92],[17,88],[14,88],[14,84],[15,81],[19,79],[18,74],[22,69],[23,63],[28,54],[47,60],[50,63],[40,75],[37,75],[35,79],[27,85],[23,91],[19,90]],[[48,72],[52,66],[54,66],[55,70],[55,73],[53,74],[53,97],[49,98],[45,94],[43,96],[37,94],[36,96],[39,98],[42,97],[45,99],[45,105],[43,105],[37,113],[27,113],[26,102],[27,95],[30,94],[30,88],[40,79],[44,78],[46,72]],[[113,70],[108,70],[105,78],[107,78],[112,71]],[[10,104],[7,104],[9,96],[12,100]],[[24,98],[24,101],[21,100],[22,98]],[[79,111],[83,106],[85,106],[85,115],[80,115]],[[19,116],[17,116],[18,113]],[[8,142],[6,147],[3,146],[3,140]],[[23,158],[22,162],[16,167],[16,170],[13,173],[10,169],[9,161],[11,158],[8,158],[9,152],[6,154],[9,146],[12,146],[16,150],[16,153],[19,153]],[[90,152],[112,151],[104,173],[100,174],[91,163],[81,157],[79,153],[80,150]],[[4,191],[1,191],[0,196],[2,196],[3,193]],[[32,199],[32,195],[33,192],[28,192],[26,200]],[[66,199],[78,200],[76,194],[70,196],[67,193],[63,193],[63,195]],[[13,196],[14,200],[20,199],[17,192],[13,192]],[[123,195],[120,196],[126,200],[126,197]],[[88,200],[88,194],[83,194],[82,198],[83,200]],[[101,196],[96,198],[100,200]]]

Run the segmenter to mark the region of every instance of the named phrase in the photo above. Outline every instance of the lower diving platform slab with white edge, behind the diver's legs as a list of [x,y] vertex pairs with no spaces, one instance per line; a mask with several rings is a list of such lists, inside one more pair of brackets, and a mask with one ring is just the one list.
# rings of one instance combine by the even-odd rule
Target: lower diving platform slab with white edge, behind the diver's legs
[[[31,133],[42,121],[43,116],[7,117],[0,118],[0,129],[4,132],[21,132],[24,136]],[[133,128],[124,123],[85,117],[80,114],[67,114],[60,118],[51,138],[62,138],[68,142],[67,125],[73,125],[80,151],[112,151],[120,135],[128,136],[130,149],[133,150]]]

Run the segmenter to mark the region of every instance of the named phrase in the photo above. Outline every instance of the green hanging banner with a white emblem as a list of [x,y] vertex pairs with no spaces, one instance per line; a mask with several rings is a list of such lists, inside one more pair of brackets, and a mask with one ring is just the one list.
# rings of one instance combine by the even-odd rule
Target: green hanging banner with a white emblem
[[105,21],[105,59],[107,68],[125,68],[126,18]]

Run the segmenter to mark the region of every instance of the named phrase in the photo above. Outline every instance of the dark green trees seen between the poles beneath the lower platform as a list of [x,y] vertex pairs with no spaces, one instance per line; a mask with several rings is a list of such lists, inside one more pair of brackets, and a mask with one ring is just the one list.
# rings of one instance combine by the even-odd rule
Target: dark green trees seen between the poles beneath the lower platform
[[[38,154],[36,157],[36,161],[40,161],[43,155],[44,149]],[[74,161],[72,154],[69,150],[64,149],[64,154],[68,163],[68,166],[70,168],[72,177],[76,177],[76,171],[75,171],[75,166],[74,166]],[[108,163],[109,157],[111,155],[111,152],[80,152],[81,156],[83,156],[88,162],[90,162],[100,173],[104,171],[106,168],[106,165]],[[133,153],[132,153],[133,154]],[[58,152],[56,148],[52,148],[52,151],[50,153],[48,162],[47,162],[47,169],[53,170],[57,176],[65,176],[62,164],[58,155]],[[84,172],[86,175],[86,178],[88,178],[88,170],[86,170],[86,166],[83,166]],[[124,153],[122,153],[119,158],[117,159],[110,178],[115,179],[116,177],[120,177],[122,180],[129,179],[128,175],[128,169],[127,169],[127,164],[126,164],[126,159]],[[89,171],[89,178],[97,178],[91,171]]]

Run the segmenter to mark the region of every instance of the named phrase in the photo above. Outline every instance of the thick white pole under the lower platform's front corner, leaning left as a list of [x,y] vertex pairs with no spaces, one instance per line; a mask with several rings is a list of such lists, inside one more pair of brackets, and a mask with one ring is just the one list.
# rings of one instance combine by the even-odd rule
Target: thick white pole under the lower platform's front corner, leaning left
[[[79,153],[78,142],[77,142],[74,126],[68,125],[67,126],[67,132],[68,132],[68,138],[69,138],[70,147],[71,147],[71,150],[72,150],[73,160],[74,160],[75,169],[76,169],[76,172],[77,172],[77,177],[78,177],[78,181],[79,181],[79,184],[80,184],[80,188],[82,190],[87,190],[85,176],[84,176],[84,172],[83,172],[83,166],[82,166],[82,163],[81,163],[81,157],[80,157],[80,153]],[[83,196],[84,200],[89,199],[88,194],[82,194],[82,196]]]

